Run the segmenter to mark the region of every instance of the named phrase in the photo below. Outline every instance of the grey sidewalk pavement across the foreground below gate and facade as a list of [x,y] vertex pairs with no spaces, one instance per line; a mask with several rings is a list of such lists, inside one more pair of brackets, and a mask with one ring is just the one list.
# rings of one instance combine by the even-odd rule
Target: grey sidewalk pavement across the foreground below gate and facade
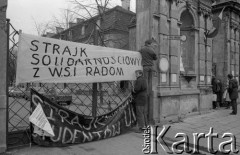
[[[159,155],[169,155],[169,151],[166,146],[171,148],[174,142],[180,141],[189,141],[189,150],[194,150],[199,148],[199,153],[202,155],[210,155],[210,150],[208,149],[208,138],[203,137],[200,140],[197,140],[197,136],[201,137],[201,135],[208,135],[211,131],[212,127],[213,133],[218,134],[218,138],[213,138],[213,149],[219,150],[219,146],[223,142],[233,140],[233,143],[228,143],[225,147],[225,150],[230,149],[232,146],[232,150],[239,149],[240,150],[240,105],[238,106],[238,114],[230,115],[232,110],[220,108],[217,110],[211,110],[208,113],[195,115],[191,117],[187,117],[179,122],[171,122],[164,125],[159,125],[157,129],[157,135],[161,135],[163,138],[160,139],[160,143],[158,142],[155,146],[157,150],[156,154]],[[167,132],[163,130],[163,127],[169,128]],[[135,128],[128,131],[127,133],[121,134],[116,137],[112,137],[105,140],[94,141],[84,144],[77,144],[67,147],[40,147],[37,145],[32,145],[31,147],[17,148],[8,150],[6,155],[141,155],[144,154],[142,152],[144,137],[142,133],[136,133]],[[160,132],[162,134],[160,134]],[[194,134],[195,133],[195,134]],[[198,134],[196,134],[198,133]],[[202,133],[202,134],[201,134]],[[210,132],[211,133],[211,132]],[[223,138],[223,134],[232,133],[236,142],[234,142],[234,138],[225,137]],[[176,138],[176,136],[179,136]],[[158,139],[159,140],[159,139]],[[199,145],[197,145],[199,142]],[[164,145],[164,143],[166,145]],[[161,145],[162,146],[161,146]],[[185,143],[186,144],[186,143]],[[233,145],[231,145],[233,144]],[[177,145],[174,145],[177,146]],[[178,150],[183,150],[183,143],[176,147]],[[187,148],[187,147],[185,147]],[[164,150],[165,149],[165,150]],[[175,149],[176,150],[176,149]],[[176,154],[175,152],[172,154]],[[190,155],[193,153],[181,153],[183,155]],[[195,153],[197,154],[197,153]],[[220,155],[223,153],[215,153],[216,155]],[[240,154],[231,152],[230,155]]]

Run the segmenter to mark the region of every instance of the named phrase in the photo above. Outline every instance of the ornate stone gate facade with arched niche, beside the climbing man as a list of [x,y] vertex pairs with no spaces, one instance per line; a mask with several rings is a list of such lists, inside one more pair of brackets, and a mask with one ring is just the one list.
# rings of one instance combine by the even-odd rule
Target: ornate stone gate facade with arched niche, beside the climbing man
[[136,20],[129,26],[136,36],[130,44],[136,46],[130,50],[153,39],[158,55],[150,83],[151,122],[212,108],[212,39],[205,35],[212,29],[211,5],[210,0],[137,0]]

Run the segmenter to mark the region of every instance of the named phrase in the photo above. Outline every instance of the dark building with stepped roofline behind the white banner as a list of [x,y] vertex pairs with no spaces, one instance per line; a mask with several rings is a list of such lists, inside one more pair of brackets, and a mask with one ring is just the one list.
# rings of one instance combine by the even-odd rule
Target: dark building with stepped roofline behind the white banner
[[[129,3],[130,4],[130,1]],[[124,3],[124,7],[127,4]],[[101,11],[100,11],[101,12]],[[66,30],[59,30],[52,38],[128,49],[128,25],[135,13],[116,6],[88,20],[78,19]],[[97,32],[95,31],[97,30]],[[96,41],[97,40],[97,41]],[[95,42],[94,42],[95,41]]]

